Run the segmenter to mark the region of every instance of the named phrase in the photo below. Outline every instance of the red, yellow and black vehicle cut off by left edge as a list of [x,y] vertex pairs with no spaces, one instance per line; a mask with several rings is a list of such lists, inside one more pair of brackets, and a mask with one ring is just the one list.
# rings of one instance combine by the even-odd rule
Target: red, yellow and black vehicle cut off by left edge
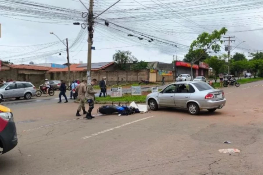
[[17,130],[11,109],[0,105],[0,154],[17,145]]

